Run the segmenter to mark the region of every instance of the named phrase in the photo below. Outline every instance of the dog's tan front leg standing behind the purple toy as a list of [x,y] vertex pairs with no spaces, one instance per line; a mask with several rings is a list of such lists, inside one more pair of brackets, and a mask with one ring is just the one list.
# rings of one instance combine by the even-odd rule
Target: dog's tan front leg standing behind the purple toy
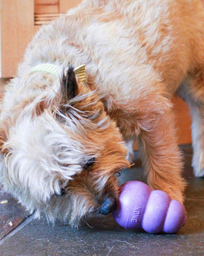
[[140,129],[139,143],[148,184],[183,203],[182,157],[176,143],[171,109],[149,113],[148,118],[140,121]]

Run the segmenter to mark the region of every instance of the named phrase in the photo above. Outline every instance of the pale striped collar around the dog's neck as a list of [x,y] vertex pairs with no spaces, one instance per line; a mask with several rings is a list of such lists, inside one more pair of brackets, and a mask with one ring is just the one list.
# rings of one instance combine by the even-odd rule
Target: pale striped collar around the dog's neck
[[[34,72],[46,72],[52,75],[57,76],[60,73],[60,70],[62,67],[51,64],[51,63],[43,63],[39,64],[35,67],[33,67],[29,74],[34,73]],[[77,67],[74,69],[75,76],[82,82],[85,83],[85,64]]]

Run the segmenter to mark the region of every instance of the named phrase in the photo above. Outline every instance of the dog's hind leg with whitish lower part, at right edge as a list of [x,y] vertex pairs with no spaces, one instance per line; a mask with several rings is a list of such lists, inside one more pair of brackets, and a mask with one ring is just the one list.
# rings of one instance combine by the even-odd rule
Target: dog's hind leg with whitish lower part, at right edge
[[204,71],[179,87],[178,94],[188,104],[192,116],[192,167],[196,177],[204,176]]

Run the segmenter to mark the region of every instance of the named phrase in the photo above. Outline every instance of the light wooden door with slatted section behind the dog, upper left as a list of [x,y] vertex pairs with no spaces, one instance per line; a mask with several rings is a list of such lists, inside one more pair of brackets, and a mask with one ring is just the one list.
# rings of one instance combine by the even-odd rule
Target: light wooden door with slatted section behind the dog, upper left
[[1,0],[1,77],[16,75],[28,42],[39,27],[82,0]]

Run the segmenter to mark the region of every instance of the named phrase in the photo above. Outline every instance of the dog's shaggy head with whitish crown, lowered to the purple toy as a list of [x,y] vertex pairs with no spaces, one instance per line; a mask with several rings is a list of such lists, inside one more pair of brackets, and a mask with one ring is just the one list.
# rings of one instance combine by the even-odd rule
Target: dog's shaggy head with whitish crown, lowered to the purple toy
[[116,173],[129,162],[115,122],[73,68],[53,83],[43,89],[37,83],[2,120],[1,181],[36,215],[44,210],[50,221],[77,226],[114,209]]

